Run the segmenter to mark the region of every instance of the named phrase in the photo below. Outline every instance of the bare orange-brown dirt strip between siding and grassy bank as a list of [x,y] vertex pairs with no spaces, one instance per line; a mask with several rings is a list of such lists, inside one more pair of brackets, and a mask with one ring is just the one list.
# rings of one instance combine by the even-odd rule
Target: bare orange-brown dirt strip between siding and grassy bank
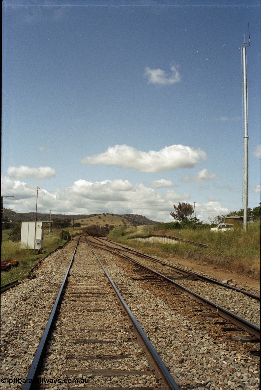
[[197,273],[204,273],[214,279],[229,280],[232,279],[235,283],[245,284],[249,287],[260,289],[260,280],[251,279],[231,271],[217,269],[210,264],[198,260],[184,260],[178,257],[169,257],[169,260],[177,266],[188,267]]

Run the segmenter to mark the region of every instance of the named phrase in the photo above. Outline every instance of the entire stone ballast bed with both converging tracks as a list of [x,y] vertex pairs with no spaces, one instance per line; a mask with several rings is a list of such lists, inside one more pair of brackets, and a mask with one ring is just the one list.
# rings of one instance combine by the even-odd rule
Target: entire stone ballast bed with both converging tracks
[[34,272],[1,296],[2,375],[23,389],[259,388],[255,294],[84,236]]

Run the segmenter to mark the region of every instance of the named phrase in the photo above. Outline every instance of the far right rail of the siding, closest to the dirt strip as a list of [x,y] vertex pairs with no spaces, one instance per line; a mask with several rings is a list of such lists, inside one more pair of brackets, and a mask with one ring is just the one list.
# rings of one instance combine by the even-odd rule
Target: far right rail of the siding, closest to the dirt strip
[[[100,241],[100,240],[99,240]],[[110,241],[110,240],[107,240],[107,241]],[[110,241],[112,242],[112,241]],[[113,242],[112,242],[113,243]],[[115,243],[114,243],[115,244]],[[252,294],[252,293],[249,293],[248,291],[243,291],[241,289],[239,289],[238,287],[234,287],[234,286],[230,286],[229,284],[226,284],[226,283],[223,283],[223,282],[219,282],[218,280],[216,279],[212,279],[212,278],[208,278],[207,276],[204,276],[204,275],[201,275],[199,273],[196,273],[194,271],[190,271],[190,270],[187,270],[187,269],[183,269],[181,267],[178,267],[178,266],[175,266],[174,264],[171,264],[171,263],[168,263],[168,262],[165,262],[163,260],[159,260],[159,259],[156,259],[155,257],[152,257],[152,256],[149,256],[149,255],[146,255],[146,254],[143,254],[137,250],[133,250],[133,249],[129,249],[127,247],[125,247],[124,245],[120,245],[120,244],[116,244],[116,245],[119,245],[119,246],[123,246],[123,248],[126,248],[126,250],[128,251],[131,251],[133,252],[133,254],[137,254],[138,256],[140,257],[145,257],[146,259],[149,259],[149,260],[153,260],[153,261],[156,261],[156,262],[159,262],[160,264],[164,264],[170,268],[173,268],[173,269],[176,269],[177,271],[183,273],[184,275],[192,275],[194,276],[195,278],[197,279],[202,279],[202,280],[206,280],[208,282],[211,282],[211,283],[215,283],[215,284],[218,284],[220,286],[223,286],[223,287],[226,287],[228,289],[231,289],[231,290],[234,290],[234,291],[237,291],[238,293],[241,293],[241,294],[245,294],[245,295],[248,295],[250,296],[251,298],[253,299],[256,299],[258,301],[260,301],[260,296],[259,295],[256,295],[256,294]],[[116,248],[113,248],[115,250],[118,250]]]

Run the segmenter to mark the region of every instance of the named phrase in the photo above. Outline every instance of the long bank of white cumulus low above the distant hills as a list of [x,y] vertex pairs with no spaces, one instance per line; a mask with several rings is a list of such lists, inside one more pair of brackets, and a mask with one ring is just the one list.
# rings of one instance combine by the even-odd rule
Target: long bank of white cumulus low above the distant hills
[[[16,212],[35,210],[37,186],[2,177],[2,191],[14,195],[5,200],[6,207]],[[173,204],[190,199],[189,193],[156,192],[144,184],[131,184],[128,180],[115,179],[101,182],[77,180],[72,186],[53,193],[40,188],[38,209],[43,213],[92,214],[92,213],[133,213],[153,220],[169,218]],[[28,206],[28,207],[26,207]]]

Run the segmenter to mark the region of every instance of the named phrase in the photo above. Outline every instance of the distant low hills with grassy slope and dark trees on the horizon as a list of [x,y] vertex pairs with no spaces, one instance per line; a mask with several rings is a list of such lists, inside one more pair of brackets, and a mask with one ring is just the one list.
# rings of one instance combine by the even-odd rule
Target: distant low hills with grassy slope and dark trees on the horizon
[[[51,214],[51,220],[53,218],[70,218],[71,223],[80,222],[81,226],[92,226],[98,225],[105,226],[108,225],[126,225],[126,226],[137,226],[137,225],[155,225],[157,221],[150,220],[142,215],[137,214],[78,214],[78,215],[64,215],[64,214]],[[16,213],[15,211],[4,209],[3,210],[3,220],[8,222],[24,222],[24,221],[34,221],[35,213]],[[38,221],[49,221],[50,214],[37,213]]]

